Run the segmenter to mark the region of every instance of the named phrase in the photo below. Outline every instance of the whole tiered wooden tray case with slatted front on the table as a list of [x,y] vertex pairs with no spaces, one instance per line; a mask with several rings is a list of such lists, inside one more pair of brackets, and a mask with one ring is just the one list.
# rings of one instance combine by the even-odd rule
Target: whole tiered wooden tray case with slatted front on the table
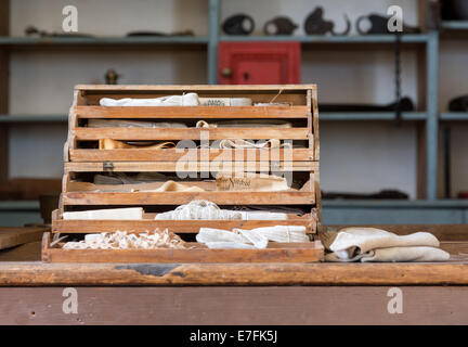
[[[102,98],[152,99],[166,95],[197,93],[199,98],[249,98],[250,106],[101,106]],[[259,105],[260,103],[260,105]],[[90,127],[89,121],[170,121],[186,127]],[[217,127],[197,128],[198,120]],[[289,127],[223,127],[224,121],[287,121]],[[113,125],[114,126],[114,125]],[[99,149],[100,140],[136,145],[125,149]],[[277,139],[276,149],[206,149],[200,141],[243,139],[261,141]],[[193,142],[194,149],[139,147],[139,143],[169,141]],[[288,146],[284,146],[288,143]],[[191,153],[187,156],[187,153]],[[318,115],[315,85],[300,86],[77,86],[69,112],[68,139],[64,147],[64,177],[58,209],[52,215],[53,233],[100,233],[127,231],[140,233],[168,229],[181,236],[194,234],[202,227],[232,230],[271,226],[306,226],[312,242],[278,244],[265,249],[193,249],[95,250],[62,249],[50,246],[44,236],[43,261],[145,261],[145,262],[231,262],[231,261],[318,261],[323,248],[314,234],[321,228],[321,193],[318,184]],[[190,159],[186,159],[186,158]],[[184,160],[181,165],[181,160]],[[222,163],[222,164],[221,164]],[[285,191],[221,191],[216,189],[220,164],[231,172],[251,171],[289,175],[289,181],[306,182],[299,189]],[[266,163],[266,166],[265,166]],[[150,174],[151,172],[151,174]],[[159,172],[168,177],[188,176],[184,184],[206,188],[205,191],[95,191],[90,187],[95,175],[135,175]],[[235,175],[235,174],[232,174]],[[211,179],[211,182],[208,180]],[[87,185],[88,184],[88,185]],[[91,185],[92,187],[92,185]],[[132,185],[134,187],[134,185]],[[209,187],[214,187],[211,189]],[[195,200],[206,200],[221,208],[238,206],[289,206],[306,210],[289,214],[287,220],[164,220],[159,213],[172,210]],[[67,211],[103,208],[143,207],[139,220],[68,220]]]

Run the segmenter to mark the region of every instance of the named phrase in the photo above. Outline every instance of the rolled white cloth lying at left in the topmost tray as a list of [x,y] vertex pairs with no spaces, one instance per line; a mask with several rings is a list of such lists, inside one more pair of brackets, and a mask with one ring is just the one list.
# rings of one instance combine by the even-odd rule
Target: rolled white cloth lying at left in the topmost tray
[[154,99],[110,99],[102,98],[101,106],[198,106],[198,94],[168,95]]

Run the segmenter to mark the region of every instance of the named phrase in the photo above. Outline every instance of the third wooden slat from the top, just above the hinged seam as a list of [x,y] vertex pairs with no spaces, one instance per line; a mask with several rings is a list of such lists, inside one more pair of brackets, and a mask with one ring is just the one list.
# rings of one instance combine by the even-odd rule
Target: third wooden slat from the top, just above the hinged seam
[[[177,162],[186,156],[187,153],[194,153],[196,158],[208,158],[209,160],[313,160],[313,150],[292,149],[292,150],[70,150],[72,162]],[[196,153],[196,155],[195,155]]]

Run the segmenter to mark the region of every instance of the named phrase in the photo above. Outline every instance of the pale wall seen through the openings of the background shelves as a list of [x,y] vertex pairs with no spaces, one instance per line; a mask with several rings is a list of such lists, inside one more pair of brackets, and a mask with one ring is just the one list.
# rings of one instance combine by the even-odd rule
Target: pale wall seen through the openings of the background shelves
[[[12,1],[12,35],[21,36],[27,25],[40,29],[60,30],[61,9],[76,4],[79,29],[98,35],[123,35],[132,29],[182,30],[192,28],[199,35],[208,33],[207,0],[153,1]],[[354,23],[358,15],[382,12],[390,3],[403,5],[405,21],[416,23],[416,1],[368,1],[350,4],[344,0],[322,1],[325,17],[343,26],[342,14],[349,13]],[[294,5],[292,5],[294,4]],[[261,30],[263,23],[281,13],[300,24],[317,2],[306,0],[238,0],[222,1],[221,18],[236,12],[248,12]],[[112,8],[110,8],[112,7]],[[116,9],[116,10],[113,10]],[[58,48],[60,49],[60,48]],[[107,48],[98,51],[74,49],[57,51],[16,51],[11,62],[11,107],[13,114],[65,114],[76,83],[102,82],[105,70],[114,67],[122,74],[121,83],[193,83],[206,82],[206,53],[204,51],[150,52]],[[343,53],[344,52],[344,53]],[[404,70],[416,66],[415,54],[404,53]],[[314,51],[303,54],[302,80],[318,82],[322,102],[393,101],[393,52]],[[335,77],[334,77],[335,76]],[[416,75],[404,77],[403,90],[416,95]],[[63,130],[62,130],[63,129]],[[391,123],[327,123],[321,126],[322,175],[326,191],[374,192],[396,188],[416,197],[416,131],[414,124],[401,129]],[[34,132],[41,132],[36,140]],[[54,177],[62,172],[62,146],[65,126],[13,127],[11,132],[12,177]],[[23,137],[26,136],[25,140]],[[54,153],[41,157],[41,167],[35,164],[35,147]],[[53,150],[52,150],[53,147]],[[57,156],[57,157],[55,157]],[[22,163],[15,163],[21,158]],[[369,158],[372,163],[369,164]],[[370,167],[370,170],[369,170]],[[372,175],[370,175],[372,172]]]

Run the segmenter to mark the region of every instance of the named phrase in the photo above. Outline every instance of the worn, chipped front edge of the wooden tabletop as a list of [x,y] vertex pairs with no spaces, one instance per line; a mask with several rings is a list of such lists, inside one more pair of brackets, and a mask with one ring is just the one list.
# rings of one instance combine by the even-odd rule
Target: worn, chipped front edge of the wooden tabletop
[[40,264],[0,262],[0,286],[468,285],[468,262]]

